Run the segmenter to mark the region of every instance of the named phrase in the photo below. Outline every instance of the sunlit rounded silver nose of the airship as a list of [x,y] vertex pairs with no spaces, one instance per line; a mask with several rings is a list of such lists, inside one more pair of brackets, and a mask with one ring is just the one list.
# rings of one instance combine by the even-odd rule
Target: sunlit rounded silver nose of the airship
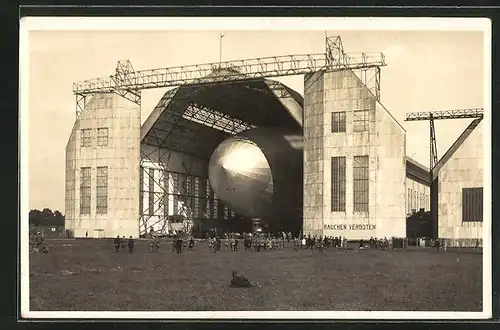
[[256,217],[270,202],[273,180],[262,150],[244,137],[222,142],[209,163],[210,185],[217,197],[233,211]]

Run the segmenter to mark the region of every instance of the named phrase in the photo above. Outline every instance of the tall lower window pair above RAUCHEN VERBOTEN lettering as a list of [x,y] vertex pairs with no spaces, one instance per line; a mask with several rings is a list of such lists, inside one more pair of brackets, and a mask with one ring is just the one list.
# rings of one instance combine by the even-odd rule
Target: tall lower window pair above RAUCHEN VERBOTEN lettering
[[[346,210],[346,157],[332,157],[332,212]],[[353,158],[353,210],[368,212],[369,209],[369,157]]]

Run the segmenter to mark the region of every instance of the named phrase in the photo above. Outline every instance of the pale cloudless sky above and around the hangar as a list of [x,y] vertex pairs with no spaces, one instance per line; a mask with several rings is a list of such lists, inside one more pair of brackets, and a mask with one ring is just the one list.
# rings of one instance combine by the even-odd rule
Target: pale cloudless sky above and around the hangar
[[[29,208],[64,213],[65,147],[75,121],[72,84],[113,73],[118,60],[136,70],[222,60],[324,52],[325,31],[30,31]],[[407,155],[429,165],[429,123],[407,112],[483,107],[483,34],[447,31],[342,31],[348,53],[382,52],[381,103],[407,131]],[[21,68],[23,70],[23,68]],[[273,78],[275,79],[275,78]],[[303,76],[276,78],[303,95]],[[21,93],[23,88],[21,86]],[[143,91],[142,121],[165,89]],[[470,120],[436,122],[441,157]],[[21,160],[22,161],[22,160]]]

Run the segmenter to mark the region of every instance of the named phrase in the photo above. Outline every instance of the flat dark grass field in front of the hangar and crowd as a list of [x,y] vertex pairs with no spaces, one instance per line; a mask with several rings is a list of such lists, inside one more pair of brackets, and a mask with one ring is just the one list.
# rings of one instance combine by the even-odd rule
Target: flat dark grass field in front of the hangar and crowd
[[[482,255],[327,249],[113,253],[112,241],[46,240],[30,256],[30,309],[45,311],[481,311]],[[242,247],[243,244],[240,244]],[[230,288],[237,270],[261,287]]]

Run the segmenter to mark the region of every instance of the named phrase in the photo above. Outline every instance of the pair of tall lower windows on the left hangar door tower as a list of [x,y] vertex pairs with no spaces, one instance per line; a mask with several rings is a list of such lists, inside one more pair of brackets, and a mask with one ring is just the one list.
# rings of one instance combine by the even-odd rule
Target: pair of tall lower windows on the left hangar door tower
[[[80,168],[80,214],[88,215],[92,200],[92,168]],[[108,213],[108,167],[97,167],[96,213]]]

